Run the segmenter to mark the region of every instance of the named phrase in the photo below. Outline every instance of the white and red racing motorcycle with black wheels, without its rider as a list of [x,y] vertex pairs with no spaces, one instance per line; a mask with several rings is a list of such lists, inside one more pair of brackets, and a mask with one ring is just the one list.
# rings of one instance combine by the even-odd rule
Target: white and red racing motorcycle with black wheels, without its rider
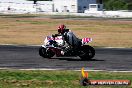
[[[64,46],[66,43],[63,36],[47,36],[44,44],[39,48],[39,55],[44,58],[56,57],[77,57],[81,60],[90,60],[95,56],[95,49],[92,46],[86,45],[91,42],[92,38],[80,39],[80,46],[73,48],[71,45]],[[63,52],[65,51],[65,53]]]

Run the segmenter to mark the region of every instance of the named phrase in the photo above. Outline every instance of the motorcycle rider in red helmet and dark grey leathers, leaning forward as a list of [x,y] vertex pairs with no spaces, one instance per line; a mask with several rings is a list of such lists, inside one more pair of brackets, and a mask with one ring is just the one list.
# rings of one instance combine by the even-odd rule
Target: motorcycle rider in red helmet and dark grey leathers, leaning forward
[[[66,47],[61,53],[64,54],[68,52],[69,48],[77,49],[81,46],[81,41],[73,34],[73,32],[69,29],[66,29],[64,24],[58,27],[58,34],[53,35],[53,37],[63,36],[63,40],[66,41],[67,44],[64,44],[63,47]],[[68,46],[71,47],[68,47]]]

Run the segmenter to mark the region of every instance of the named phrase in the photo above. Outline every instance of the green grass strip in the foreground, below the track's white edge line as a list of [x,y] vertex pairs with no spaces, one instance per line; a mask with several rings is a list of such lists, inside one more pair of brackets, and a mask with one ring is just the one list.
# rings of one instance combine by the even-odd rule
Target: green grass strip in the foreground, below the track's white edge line
[[[84,88],[81,72],[0,70],[0,88]],[[127,79],[132,73],[89,72],[89,79]],[[87,86],[87,88],[131,88],[129,86]]]

